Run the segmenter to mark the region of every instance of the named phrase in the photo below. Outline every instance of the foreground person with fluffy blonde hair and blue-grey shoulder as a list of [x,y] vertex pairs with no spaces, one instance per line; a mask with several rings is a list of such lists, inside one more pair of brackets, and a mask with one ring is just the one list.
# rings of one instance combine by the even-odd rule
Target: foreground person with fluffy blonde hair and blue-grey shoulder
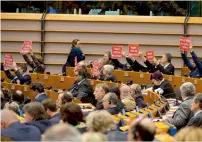
[[112,115],[106,110],[93,111],[86,117],[89,132],[99,132],[108,137],[108,141],[127,141],[127,134],[116,131]]

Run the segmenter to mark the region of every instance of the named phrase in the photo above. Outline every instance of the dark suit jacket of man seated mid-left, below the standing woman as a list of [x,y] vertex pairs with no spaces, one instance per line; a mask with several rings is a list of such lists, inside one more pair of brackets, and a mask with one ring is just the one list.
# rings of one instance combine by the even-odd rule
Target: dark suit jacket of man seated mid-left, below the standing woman
[[83,81],[78,84],[75,83],[72,88],[68,89],[73,95],[73,97],[77,97],[83,103],[91,103],[95,105],[95,97],[93,95],[93,87],[88,82],[87,79],[83,79]]

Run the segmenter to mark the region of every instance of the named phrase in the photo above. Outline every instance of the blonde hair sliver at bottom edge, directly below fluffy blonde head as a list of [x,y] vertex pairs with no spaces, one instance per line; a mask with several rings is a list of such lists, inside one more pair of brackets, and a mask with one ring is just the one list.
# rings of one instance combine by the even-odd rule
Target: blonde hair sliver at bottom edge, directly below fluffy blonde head
[[102,133],[97,132],[87,132],[82,135],[83,142],[101,142],[107,141],[107,137]]

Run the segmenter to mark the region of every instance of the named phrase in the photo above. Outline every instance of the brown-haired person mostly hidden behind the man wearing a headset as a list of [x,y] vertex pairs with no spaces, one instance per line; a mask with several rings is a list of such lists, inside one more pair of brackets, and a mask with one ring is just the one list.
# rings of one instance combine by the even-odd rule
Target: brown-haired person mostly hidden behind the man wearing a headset
[[119,109],[119,111],[121,112],[124,108],[124,104],[122,103],[121,101],[121,92],[119,90],[119,87],[118,86],[111,86],[109,88],[109,92],[111,93],[115,93],[117,98],[118,98],[118,103],[117,103],[117,108]]

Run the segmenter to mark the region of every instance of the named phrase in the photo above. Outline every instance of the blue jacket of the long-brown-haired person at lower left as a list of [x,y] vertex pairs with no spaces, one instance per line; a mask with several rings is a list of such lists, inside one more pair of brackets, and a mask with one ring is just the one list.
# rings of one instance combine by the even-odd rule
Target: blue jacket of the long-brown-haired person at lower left
[[38,120],[38,121],[34,121],[34,122],[28,122],[25,124],[29,125],[29,126],[35,126],[36,128],[38,128],[40,130],[41,134],[43,134],[46,131],[46,129],[48,129],[49,127],[52,126],[52,124],[49,120]]

